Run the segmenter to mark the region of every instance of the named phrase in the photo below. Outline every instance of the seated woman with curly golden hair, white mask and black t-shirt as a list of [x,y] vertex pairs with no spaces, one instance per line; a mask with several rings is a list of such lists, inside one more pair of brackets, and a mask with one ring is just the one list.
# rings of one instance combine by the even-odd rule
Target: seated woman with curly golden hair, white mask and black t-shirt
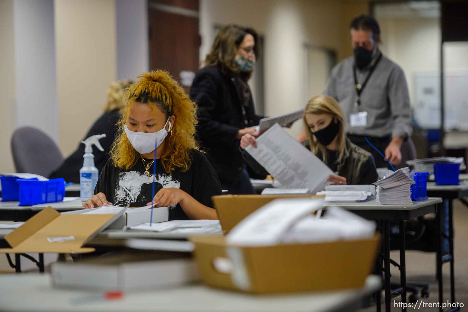
[[163,70],[138,78],[126,89],[111,159],[83,207],[110,202],[138,207],[153,201],[169,207],[169,220],[217,219],[211,197],[221,194],[221,186],[194,138],[196,104]]

